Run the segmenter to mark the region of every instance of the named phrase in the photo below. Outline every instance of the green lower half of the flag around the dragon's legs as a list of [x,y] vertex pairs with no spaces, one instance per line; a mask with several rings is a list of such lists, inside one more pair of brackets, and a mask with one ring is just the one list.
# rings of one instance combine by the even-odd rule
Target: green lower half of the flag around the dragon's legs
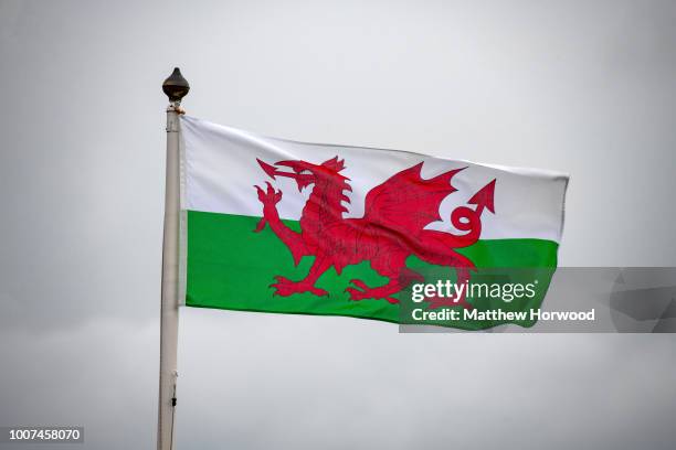
[[[334,268],[327,270],[317,281],[329,297],[300,293],[291,297],[273,297],[274,277],[282,275],[299,280],[307,275],[314,257],[305,257],[294,266],[286,246],[266,227],[254,233],[260,217],[188,212],[188,280],[186,304],[198,308],[226,310],[300,313],[319,315],[349,315],[400,322],[400,307],[384,300],[350,301],[345,288],[349,280],[358,278],[369,286],[383,285],[387,279],[373,271],[368,261],[348,266],[339,276]],[[299,231],[297,221],[284,221],[287,226]],[[558,244],[543,239],[490,239],[479,240],[471,247],[457,249],[469,257],[477,267],[556,267]],[[447,270],[421,261],[415,257],[408,260],[409,267],[425,272]],[[422,269],[422,270],[421,270]],[[549,279],[546,280],[547,285]],[[547,286],[541,286],[543,290]],[[405,296],[405,291],[400,293]],[[397,297],[397,296],[394,296]],[[539,306],[541,298],[535,301]],[[474,303],[477,306],[476,303]],[[495,303],[493,303],[495,307]],[[511,303],[513,308],[516,307]],[[528,308],[532,307],[531,301]],[[477,306],[478,308],[478,306]],[[466,329],[482,329],[495,323],[474,323]],[[528,325],[528,324],[526,324]]]

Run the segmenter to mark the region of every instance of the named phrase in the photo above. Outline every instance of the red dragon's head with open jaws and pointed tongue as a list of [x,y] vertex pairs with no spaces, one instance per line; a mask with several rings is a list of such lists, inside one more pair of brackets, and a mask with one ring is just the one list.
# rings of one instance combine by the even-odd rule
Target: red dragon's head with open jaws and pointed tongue
[[[321,164],[313,164],[307,161],[277,161],[273,164],[261,161],[256,158],[258,164],[265,173],[273,180],[276,176],[286,176],[296,180],[298,191],[303,191],[310,184],[316,183],[337,183],[349,180],[342,176],[339,172],[345,169],[345,160],[339,160],[334,157],[330,160],[324,161]],[[278,168],[289,168],[293,172],[282,171]]]

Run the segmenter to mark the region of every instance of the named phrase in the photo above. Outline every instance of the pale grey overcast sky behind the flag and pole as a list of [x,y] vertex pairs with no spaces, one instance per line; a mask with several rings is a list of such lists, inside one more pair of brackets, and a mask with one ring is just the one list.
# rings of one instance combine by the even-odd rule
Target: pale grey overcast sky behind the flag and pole
[[[673,1],[0,0],[0,426],[155,446],[175,65],[211,121],[568,172],[563,266],[676,266]],[[673,449],[675,355],[182,310],[178,448]]]

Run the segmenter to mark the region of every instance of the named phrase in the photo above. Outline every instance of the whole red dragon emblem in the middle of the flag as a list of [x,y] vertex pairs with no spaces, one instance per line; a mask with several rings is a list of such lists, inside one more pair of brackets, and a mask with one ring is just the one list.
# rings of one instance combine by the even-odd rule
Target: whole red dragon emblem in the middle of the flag
[[[422,275],[406,267],[406,258],[418,258],[433,265],[447,266],[456,270],[457,283],[469,281],[472,260],[455,248],[471,246],[482,233],[482,212],[484,208],[495,213],[495,180],[480,189],[469,201],[471,206],[458,206],[451,214],[453,226],[464,232],[454,235],[446,232],[424,229],[432,222],[441,219],[440,204],[456,189],[451,184],[453,176],[465,168],[455,169],[430,180],[421,176],[423,163],[395,173],[382,184],[373,188],[366,196],[363,217],[344,218],[348,210],[344,205],[350,200],[345,194],[351,192],[349,179],[341,175],[345,160],[338,157],[321,164],[306,161],[278,161],[274,165],[289,168],[284,172],[276,167],[257,160],[265,173],[294,179],[298,191],[314,184],[313,192],[303,208],[300,232],[288,228],[277,213],[276,204],[282,200],[282,191],[266,182],[267,189],[254,186],[263,203],[263,217],[255,232],[270,225],[275,235],[288,247],[298,265],[304,256],[315,256],[315,261],[305,279],[292,281],[276,276],[271,285],[276,296],[292,296],[311,292],[327,296],[328,292],[315,286],[317,279],[330,267],[338,274],[348,265],[370,261],[371,268],[389,279],[383,286],[367,286],[363,281],[350,280],[346,289],[351,300],[384,299],[398,303],[394,294],[413,281],[424,281]],[[458,298],[427,298],[430,308],[463,306],[471,308],[465,294]]]

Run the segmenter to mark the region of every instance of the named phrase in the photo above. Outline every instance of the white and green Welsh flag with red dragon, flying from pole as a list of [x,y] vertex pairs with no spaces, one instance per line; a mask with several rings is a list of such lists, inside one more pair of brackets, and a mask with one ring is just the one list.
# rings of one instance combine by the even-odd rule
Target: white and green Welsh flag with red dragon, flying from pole
[[[181,136],[186,306],[402,323],[414,285],[556,268],[563,174],[295,142],[192,117],[181,117]],[[504,307],[538,307],[546,274],[538,296]],[[468,293],[420,306],[495,307]]]

